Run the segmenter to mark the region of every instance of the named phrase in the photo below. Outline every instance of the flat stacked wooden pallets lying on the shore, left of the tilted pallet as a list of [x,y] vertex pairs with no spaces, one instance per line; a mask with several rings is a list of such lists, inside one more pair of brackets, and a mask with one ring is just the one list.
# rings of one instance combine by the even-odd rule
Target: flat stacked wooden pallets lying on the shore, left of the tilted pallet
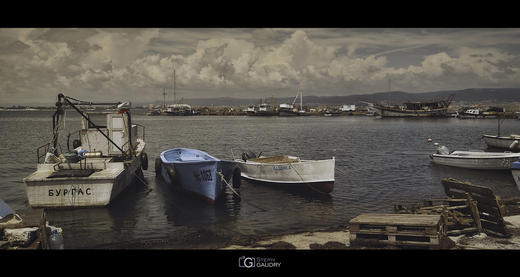
[[372,238],[384,245],[437,249],[440,218],[440,215],[363,214],[350,220],[350,241]]

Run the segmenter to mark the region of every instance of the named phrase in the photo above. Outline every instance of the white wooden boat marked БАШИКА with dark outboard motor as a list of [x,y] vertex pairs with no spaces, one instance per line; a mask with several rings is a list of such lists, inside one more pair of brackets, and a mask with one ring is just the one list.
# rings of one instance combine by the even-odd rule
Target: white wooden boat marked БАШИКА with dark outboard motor
[[335,159],[302,160],[293,156],[256,157],[251,151],[237,159],[243,178],[254,182],[330,193],[334,188]]

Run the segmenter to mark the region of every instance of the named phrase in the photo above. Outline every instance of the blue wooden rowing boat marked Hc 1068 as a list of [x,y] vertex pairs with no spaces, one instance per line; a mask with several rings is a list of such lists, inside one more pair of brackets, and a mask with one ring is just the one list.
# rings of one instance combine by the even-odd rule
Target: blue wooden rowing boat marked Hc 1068
[[[214,204],[233,177],[233,187],[240,187],[237,161],[217,159],[201,150],[174,148],[155,159],[155,174],[173,188],[188,192]],[[223,182],[225,181],[225,182]]]

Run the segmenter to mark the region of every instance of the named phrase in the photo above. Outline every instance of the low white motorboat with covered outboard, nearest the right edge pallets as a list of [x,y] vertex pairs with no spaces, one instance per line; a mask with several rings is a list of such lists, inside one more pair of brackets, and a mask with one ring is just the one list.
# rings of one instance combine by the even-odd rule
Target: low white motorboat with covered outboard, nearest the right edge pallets
[[520,158],[520,153],[453,151],[446,146],[437,148],[436,154],[430,155],[438,165],[469,169],[510,169],[513,162]]

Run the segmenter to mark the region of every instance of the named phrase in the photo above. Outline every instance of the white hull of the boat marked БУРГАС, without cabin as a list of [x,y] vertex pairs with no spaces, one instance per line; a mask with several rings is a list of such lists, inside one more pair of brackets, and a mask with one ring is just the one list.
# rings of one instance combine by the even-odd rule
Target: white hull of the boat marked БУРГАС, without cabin
[[[144,143],[143,143],[144,144]],[[80,163],[41,163],[23,185],[32,208],[100,207],[108,205],[137,177],[142,177],[142,151],[131,162],[108,162],[92,158]],[[54,170],[55,166],[60,168]],[[96,170],[85,177],[74,173]],[[51,174],[70,173],[71,177],[52,178]]]

